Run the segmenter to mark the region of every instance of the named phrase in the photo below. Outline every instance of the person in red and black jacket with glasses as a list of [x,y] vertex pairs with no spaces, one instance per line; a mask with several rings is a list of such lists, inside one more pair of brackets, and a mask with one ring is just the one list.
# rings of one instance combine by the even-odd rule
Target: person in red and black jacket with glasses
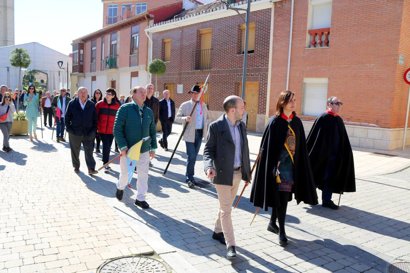
[[[120,108],[114,88],[108,88],[105,91],[105,98],[96,104],[96,108],[98,115],[97,132],[103,142],[103,164],[105,164],[109,161],[109,151],[114,140],[112,129],[114,128],[115,115]],[[104,171],[107,172],[110,169],[109,166],[106,166]]]

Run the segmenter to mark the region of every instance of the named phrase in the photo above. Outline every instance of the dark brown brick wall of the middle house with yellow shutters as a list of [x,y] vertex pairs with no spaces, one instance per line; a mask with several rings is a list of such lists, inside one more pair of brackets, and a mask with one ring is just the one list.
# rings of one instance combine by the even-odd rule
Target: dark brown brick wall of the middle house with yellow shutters
[[[266,111],[267,72],[269,65],[269,29],[271,10],[264,9],[251,13],[251,22],[255,22],[255,53],[248,54],[247,76],[259,81],[258,114]],[[192,51],[200,50],[200,29],[212,27],[212,53],[210,77],[209,109],[223,111],[223,100],[228,95],[239,95],[244,55],[240,54],[244,24],[240,16],[230,16],[198,23],[186,27],[153,33],[153,59],[164,59],[165,38],[171,38],[171,59],[166,63],[166,73],[158,77],[158,88],[165,89],[165,83],[175,83],[174,100],[178,107],[187,101],[188,91],[197,82],[205,80],[209,70],[192,71]],[[153,80],[155,82],[155,78]],[[177,94],[177,84],[183,84],[183,94]]]

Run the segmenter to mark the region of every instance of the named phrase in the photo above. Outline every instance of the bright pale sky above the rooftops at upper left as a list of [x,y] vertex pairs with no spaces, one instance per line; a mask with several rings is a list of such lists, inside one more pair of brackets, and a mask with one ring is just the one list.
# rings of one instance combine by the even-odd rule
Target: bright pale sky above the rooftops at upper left
[[102,27],[100,0],[14,0],[16,45],[39,42],[68,55],[74,39]]

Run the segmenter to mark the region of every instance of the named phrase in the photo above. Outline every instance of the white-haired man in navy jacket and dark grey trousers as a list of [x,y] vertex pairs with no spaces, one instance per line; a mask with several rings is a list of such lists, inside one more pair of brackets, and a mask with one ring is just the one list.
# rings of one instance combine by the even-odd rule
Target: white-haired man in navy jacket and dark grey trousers
[[82,144],[88,174],[91,175],[98,173],[95,170],[96,160],[93,157],[98,116],[96,106],[90,99],[87,99],[87,94],[87,88],[78,88],[78,97],[68,103],[64,123],[68,132],[74,172],[80,172],[79,156]]

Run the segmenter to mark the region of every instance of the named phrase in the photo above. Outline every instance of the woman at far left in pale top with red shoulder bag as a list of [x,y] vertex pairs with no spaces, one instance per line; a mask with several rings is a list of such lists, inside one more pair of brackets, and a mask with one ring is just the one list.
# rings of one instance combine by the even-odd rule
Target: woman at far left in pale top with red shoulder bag
[[2,102],[0,103],[0,117],[7,113],[7,118],[3,121],[0,121],[0,130],[3,133],[3,151],[7,153],[12,151],[9,145],[9,138],[11,133],[11,128],[13,127],[13,113],[16,112],[14,104],[11,101],[11,95],[5,93]]

